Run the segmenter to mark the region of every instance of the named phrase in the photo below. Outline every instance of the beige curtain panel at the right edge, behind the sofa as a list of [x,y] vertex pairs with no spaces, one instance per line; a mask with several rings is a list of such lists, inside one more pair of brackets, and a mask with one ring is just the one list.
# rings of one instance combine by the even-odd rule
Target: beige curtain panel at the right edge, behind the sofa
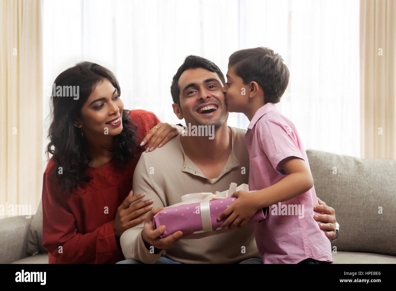
[[360,2],[360,155],[396,159],[396,1]]

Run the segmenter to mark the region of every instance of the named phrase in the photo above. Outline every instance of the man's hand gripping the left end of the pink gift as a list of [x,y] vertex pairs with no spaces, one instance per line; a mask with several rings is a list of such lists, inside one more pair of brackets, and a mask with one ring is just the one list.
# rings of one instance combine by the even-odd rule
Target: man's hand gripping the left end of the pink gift
[[143,226],[142,238],[146,245],[156,247],[157,249],[169,249],[171,245],[178,240],[180,240],[183,232],[180,230],[167,236],[166,238],[160,238],[159,236],[166,230],[165,225],[160,225],[158,228],[154,229],[154,224],[152,219],[154,215],[160,212],[164,207],[153,208],[147,215],[145,219],[145,224]]

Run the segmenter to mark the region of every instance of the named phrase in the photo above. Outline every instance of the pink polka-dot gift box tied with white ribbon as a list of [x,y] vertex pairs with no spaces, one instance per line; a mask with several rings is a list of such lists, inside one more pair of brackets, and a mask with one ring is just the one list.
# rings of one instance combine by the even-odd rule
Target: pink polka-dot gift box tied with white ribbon
[[[184,195],[181,197],[181,203],[165,207],[162,211],[154,215],[154,228],[160,225],[166,226],[166,230],[160,235],[160,238],[165,238],[179,230],[181,230],[183,234],[200,234],[202,232],[213,232],[213,234],[217,234],[228,231],[227,228],[225,230],[220,228],[221,224],[223,224],[228,217],[225,217],[221,221],[217,221],[217,217],[238,199],[237,197],[231,196],[235,191],[239,190],[253,192],[249,191],[249,185],[247,184],[241,184],[237,187],[236,183],[231,183],[230,188],[223,192],[216,191],[215,194],[191,193]],[[268,207],[265,208],[265,211],[259,209],[247,224],[262,221],[267,217],[268,211]],[[208,234],[205,234],[204,236],[207,235]],[[191,238],[199,237],[192,236]]]

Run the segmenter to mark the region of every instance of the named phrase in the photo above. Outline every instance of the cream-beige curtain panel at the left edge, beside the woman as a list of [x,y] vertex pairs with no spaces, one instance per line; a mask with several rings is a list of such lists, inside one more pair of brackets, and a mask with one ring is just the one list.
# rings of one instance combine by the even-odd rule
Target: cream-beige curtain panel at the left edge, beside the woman
[[[0,218],[36,213],[42,191],[41,1],[0,1]],[[1,208],[2,207],[2,208]],[[15,211],[15,213],[12,213]]]

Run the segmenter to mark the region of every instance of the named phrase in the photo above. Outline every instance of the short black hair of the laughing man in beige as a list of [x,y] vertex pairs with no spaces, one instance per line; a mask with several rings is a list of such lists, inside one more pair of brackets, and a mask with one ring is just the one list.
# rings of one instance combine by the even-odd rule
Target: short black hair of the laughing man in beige
[[204,68],[210,72],[217,73],[223,85],[225,84],[224,75],[219,69],[219,67],[215,65],[215,63],[203,57],[198,57],[197,55],[188,55],[184,60],[184,63],[177,70],[175,76],[173,76],[172,85],[171,85],[171,95],[172,95],[173,103],[177,103],[177,105],[179,105],[179,108],[180,108],[180,99],[179,99],[180,89],[177,83],[179,82],[179,78],[181,74],[183,74],[185,70],[195,69],[195,68]]

